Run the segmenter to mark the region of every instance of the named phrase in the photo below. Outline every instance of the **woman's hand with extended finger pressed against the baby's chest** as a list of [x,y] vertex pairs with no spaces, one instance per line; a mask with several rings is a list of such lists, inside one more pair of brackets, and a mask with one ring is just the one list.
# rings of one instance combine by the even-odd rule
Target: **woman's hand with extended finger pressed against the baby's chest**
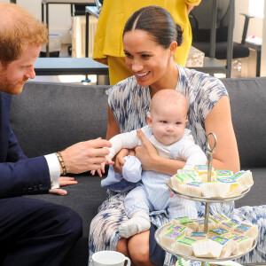
[[159,155],[141,129],[137,129],[137,137],[141,140],[142,146],[137,146],[135,148],[136,157],[141,161],[144,170],[153,170],[153,164],[158,159]]

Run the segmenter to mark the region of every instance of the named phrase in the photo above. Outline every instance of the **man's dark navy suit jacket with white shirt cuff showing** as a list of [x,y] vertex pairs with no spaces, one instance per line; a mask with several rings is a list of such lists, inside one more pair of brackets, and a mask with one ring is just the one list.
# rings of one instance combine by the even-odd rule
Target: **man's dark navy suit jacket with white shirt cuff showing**
[[51,189],[47,161],[43,156],[28,159],[11,129],[11,100],[0,92],[0,199]]

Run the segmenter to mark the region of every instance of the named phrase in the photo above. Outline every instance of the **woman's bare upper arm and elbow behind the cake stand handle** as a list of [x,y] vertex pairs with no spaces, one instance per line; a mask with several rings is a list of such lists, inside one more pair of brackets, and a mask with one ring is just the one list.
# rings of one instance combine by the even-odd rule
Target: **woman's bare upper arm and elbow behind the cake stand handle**
[[[215,169],[230,169],[239,171],[239,150],[231,121],[231,107],[227,96],[223,96],[208,113],[205,120],[206,135],[210,132],[217,137],[213,167]],[[214,139],[210,137],[210,146]]]

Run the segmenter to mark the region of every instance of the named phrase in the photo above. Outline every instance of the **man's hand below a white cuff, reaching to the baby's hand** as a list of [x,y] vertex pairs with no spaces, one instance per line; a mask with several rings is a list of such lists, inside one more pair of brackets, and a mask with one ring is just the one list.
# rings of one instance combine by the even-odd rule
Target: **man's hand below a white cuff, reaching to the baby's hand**
[[67,172],[80,174],[101,168],[101,163],[106,162],[106,155],[109,153],[109,150],[104,147],[111,146],[109,141],[98,137],[66,148],[61,154]]

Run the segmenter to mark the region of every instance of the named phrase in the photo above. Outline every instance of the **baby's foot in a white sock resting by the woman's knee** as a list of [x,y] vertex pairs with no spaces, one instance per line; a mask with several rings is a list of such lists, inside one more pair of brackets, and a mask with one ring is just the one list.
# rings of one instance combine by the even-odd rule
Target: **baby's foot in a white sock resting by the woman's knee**
[[144,212],[137,212],[126,223],[122,223],[119,227],[119,234],[122,238],[128,239],[129,237],[136,235],[142,231],[147,231],[151,228],[151,222],[149,215]]

